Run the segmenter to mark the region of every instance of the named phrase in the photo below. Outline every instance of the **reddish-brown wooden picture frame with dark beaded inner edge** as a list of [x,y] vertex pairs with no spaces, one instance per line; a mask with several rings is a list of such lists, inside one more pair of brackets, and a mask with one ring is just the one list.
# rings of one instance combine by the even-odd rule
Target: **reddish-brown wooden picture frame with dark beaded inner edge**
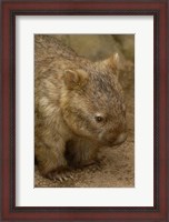
[[[0,97],[0,190],[1,221],[169,221],[168,77],[169,4],[168,0],[2,0],[1,1],[1,97]],[[16,16],[26,14],[138,14],[155,20],[155,204],[149,208],[33,208],[16,206]],[[167,62],[168,61],[168,62]],[[168,161],[169,162],[169,161]]]

